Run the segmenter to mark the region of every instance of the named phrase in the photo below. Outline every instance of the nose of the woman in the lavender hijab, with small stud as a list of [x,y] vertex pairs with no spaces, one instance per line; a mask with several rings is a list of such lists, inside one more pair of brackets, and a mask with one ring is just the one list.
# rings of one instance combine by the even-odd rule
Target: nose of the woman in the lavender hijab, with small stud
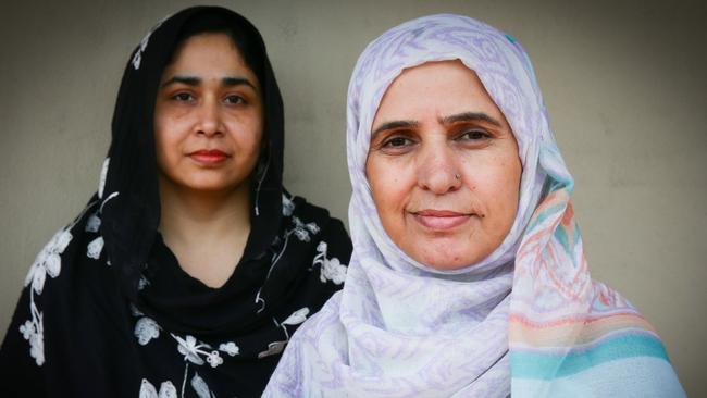
[[461,187],[461,174],[454,150],[446,144],[431,144],[421,151],[418,163],[418,185],[435,195]]

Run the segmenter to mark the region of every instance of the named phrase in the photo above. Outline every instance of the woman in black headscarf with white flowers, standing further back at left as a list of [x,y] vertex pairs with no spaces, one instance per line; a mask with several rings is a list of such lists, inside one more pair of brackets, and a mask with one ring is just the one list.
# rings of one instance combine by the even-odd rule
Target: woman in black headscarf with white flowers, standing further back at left
[[37,256],[2,396],[258,396],[340,288],[340,221],[282,186],[283,104],[258,30],[221,8],[133,52],[98,192]]

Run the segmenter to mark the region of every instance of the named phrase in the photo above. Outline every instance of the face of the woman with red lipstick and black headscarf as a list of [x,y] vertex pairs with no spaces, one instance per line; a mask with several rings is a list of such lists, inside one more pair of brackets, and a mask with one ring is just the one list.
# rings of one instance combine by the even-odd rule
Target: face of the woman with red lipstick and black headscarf
[[253,170],[263,135],[261,89],[225,34],[188,38],[162,73],[154,107],[160,182],[235,189]]

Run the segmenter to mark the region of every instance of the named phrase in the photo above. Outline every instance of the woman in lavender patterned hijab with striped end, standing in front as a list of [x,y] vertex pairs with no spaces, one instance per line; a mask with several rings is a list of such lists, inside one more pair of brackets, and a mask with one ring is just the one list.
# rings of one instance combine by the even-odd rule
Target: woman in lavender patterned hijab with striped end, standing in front
[[348,92],[354,254],[266,397],[681,397],[655,329],[592,281],[530,60],[458,15],[397,26]]

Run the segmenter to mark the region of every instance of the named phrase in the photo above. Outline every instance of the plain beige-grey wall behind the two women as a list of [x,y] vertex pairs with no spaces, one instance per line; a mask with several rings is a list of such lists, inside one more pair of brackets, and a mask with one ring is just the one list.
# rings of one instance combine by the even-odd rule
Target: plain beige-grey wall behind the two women
[[[190,1],[23,1],[0,15],[0,336],[35,254],[96,190],[123,67]],[[286,109],[288,189],[346,220],[348,79],[365,45],[455,12],[529,51],[576,179],[593,276],[662,336],[689,395],[707,396],[707,7],[699,1],[219,1],[261,30]],[[699,315],[699,314],[703,315]],[[10,331],[17,333],[17,331]]]

